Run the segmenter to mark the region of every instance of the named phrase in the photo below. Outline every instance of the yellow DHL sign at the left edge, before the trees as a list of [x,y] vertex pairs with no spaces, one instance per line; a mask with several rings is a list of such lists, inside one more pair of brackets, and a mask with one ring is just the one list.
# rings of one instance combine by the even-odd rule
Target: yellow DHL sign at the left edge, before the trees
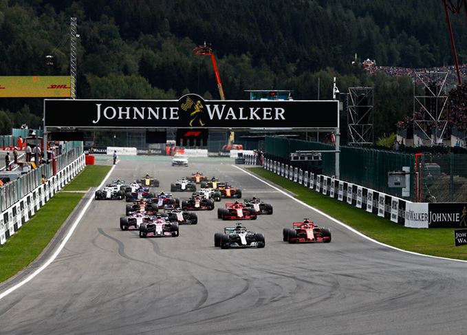
[[69,98],[69,76],[0,76],[0,98]]

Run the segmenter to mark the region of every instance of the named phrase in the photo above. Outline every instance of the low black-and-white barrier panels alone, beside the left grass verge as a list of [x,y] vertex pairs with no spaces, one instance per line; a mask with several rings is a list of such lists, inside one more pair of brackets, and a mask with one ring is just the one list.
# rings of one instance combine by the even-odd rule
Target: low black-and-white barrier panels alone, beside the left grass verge
[[68,184],[74,176],[86,166],[85,155],[80,155],[72,163],[58,171],[40,186],[34,188],[30,193],[12,204],[0,215],[0,244],[17,233],[19,228],[27,223],[39,208],[45,205],[65,184]]

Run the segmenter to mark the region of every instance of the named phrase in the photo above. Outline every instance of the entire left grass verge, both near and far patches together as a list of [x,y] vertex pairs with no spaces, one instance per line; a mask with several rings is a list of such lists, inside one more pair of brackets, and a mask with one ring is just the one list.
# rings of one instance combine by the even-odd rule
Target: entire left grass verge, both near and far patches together
[[[87,191],[99,186],[111,166],[89,165],[64,189]],[[26,268],[50,243],[84,193],[57,193],[0,246],[0,283]]]

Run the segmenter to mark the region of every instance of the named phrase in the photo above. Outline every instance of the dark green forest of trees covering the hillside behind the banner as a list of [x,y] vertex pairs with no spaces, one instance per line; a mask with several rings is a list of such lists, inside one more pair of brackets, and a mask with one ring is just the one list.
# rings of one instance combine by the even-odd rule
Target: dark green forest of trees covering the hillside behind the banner
[[[245,89],[292,89],[295,99],[375,87],[375,136],[413,111],[410,78],[369,76],[354,55],[378,65],[452,64],[440,0],[0,0],[0,76],[69,74],[69,18],[78,18],[78,98],[219,98],[212,43],[228,99]],[[467,20],[453,16],[461,62]],[[45,56],[54,56],[46,65]],[[0,100],[0,133],[39,127],[41,99]],[[66,117],[66,116],[64,116]]]

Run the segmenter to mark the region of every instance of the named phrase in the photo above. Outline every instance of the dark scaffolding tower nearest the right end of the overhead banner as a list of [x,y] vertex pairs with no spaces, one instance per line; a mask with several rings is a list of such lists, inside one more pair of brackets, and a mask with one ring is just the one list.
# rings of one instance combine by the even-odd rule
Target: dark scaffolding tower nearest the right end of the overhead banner
[[373,87],[349,87],[349,145],[373,144]]

